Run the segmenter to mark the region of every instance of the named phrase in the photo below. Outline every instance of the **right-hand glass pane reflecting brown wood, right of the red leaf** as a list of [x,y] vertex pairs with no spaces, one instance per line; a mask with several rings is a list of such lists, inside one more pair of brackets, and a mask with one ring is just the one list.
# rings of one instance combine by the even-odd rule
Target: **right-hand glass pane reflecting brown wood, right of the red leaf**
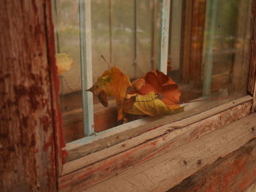
[[182,71],[170,72],[180,85],[182,101],[189,103],[185,109],[246,95],[252,1],[186,2]]

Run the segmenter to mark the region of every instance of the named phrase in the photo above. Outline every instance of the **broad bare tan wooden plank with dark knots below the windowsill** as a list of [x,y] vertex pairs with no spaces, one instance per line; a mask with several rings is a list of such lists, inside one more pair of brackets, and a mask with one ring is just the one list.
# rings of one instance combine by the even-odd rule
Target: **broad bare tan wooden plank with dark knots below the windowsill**
[[[189,175],[213,164],[256,137],[256,114],[133,166],[87,191],[167,191]],[[72,188],[82,189],[83,183]]]

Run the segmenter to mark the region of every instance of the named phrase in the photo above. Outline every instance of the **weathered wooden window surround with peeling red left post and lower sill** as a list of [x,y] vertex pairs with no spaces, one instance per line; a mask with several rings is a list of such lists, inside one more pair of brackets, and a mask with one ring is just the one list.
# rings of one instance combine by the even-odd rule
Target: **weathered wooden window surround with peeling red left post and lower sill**
[[[159,137],[61,176],[64,154],[50,1],[8,0],[0,1],[0,5],[0,97],[4,101],[0,114],[3,168],[0,187],[4,191],[57,191],[57,185],[59,191],[83,191],[86,188],[87,191],[110,191],[113,188],[114,191],[136,188],[136,191],[167,191],[219,157],[233,155],[234,150],[256,137],[256,2],[253,0],[248,82],[252,97],[246,96],[197,115],[195,112],[189,119],[176,117],[173,119],[176,124]],[[236,120],[244,116],[241,111],[246,117]],[[204,119],[198,118],[201,115]],[[167,126],[168,122],[160,119],[158,123]],[[156,125],[151,126],[148,128]],[[207,131],[208,134],[200,137]],[[167,145],[161,145],[163,142]],[[249,145],[254,146],[246,145],[245,150],[241,147],[241,153],[245,158],[253,155],[250,161],[255,162],[255,152],[250,153],[252,148],[255,151],[255,139]],[[244,165],[236,157],[231,161],[240,168]],[[249,171],[254,174],[246,172],[243,177],[255,175],[255,164],[250,165]],[[219,180],[230,180],[233,178],[230,174],[237,171],[241,181],[244,172],[240,168],[236,172],[229,168],[227,177],[217,177],[214,181],[220,185]],[[242,184],[247,185],[248,180]]]

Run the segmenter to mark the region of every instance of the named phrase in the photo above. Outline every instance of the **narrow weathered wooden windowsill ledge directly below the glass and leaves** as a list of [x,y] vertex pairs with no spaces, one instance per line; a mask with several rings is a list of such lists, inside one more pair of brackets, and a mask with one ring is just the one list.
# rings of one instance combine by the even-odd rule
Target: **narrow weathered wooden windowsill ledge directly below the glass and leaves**
[[[191,139],[208,134],[219,126],[225,126],[227,123],[249,115],[251,106],[252,96],[244,96],[236,100],[223,99],[176,115],[154,119],[146,125],[135,126],[134,124],[133,128],[121,133],[68,150],[69,159],[64,164],[61,175],[68,175],[70,172],[83,167],[90,167],[90,165],[94,166],[95,163],[100,164],[102,160],[129,151],[134,147],[146,145],[148,141],[159,137],[162,137],[161,142],[158,142],[154,147],[151,147],[151,145],[148,145],[149,148],[144,146],[145,148],[142,149],[145,150],[144,153],[151,153],[173,139],[181,139],[177,145],[182,145],[182,143]],[[226,119],[218,119],[219,115],[225,115]],[[216,122],[210,124],[206,130],[201,130],[206,126],[205,124],[203,126],[197,125],[200,128],[195,127],[197,122],[202,124],[204,120],[207,121],[208,118],[214,117],[217,118]],[[118,130],[120,129],[118,128]],[[193,133],[193,136],[181,137],[185,133]],[[140,153],[143,154],[143,151],[140,151]]]

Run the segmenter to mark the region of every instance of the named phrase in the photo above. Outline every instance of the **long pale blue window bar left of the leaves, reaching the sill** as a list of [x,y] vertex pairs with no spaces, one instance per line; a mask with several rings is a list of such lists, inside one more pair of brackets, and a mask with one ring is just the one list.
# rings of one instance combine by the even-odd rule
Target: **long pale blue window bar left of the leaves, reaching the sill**
[[83,95],[83,130],[86,136],[94,134],[94,104],[92,93],[91,64],[91,0],[79,0],[80,64]]

